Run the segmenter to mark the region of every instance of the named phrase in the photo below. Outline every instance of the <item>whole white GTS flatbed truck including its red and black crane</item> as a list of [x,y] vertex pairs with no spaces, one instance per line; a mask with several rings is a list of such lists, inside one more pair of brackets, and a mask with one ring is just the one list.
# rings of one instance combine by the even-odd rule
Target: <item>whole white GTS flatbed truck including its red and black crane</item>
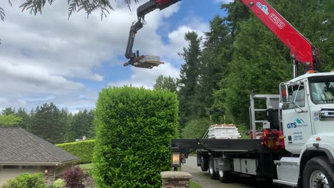
[[[125,52],[125,66],[154,68],[159,61],[132,52],[145,15],[180,0],[150,0],[137,9]],[[228,182],[246,174],[294,187],[334,188],[334,71],[317,73],[319,49],[264,0],[242,1],[291,51],[294,79],[280,84],[280,95],[250,95],[251,139],[172,139],[172,166],[177,168],[191,150],[198,166],[212,178]],[[299,65],[305,75],[298,77]],[[266,100],[255,109],[254,100]],[[267,120],[257,120],[258,112]],[[262,123],[262,130],[256,125]]]

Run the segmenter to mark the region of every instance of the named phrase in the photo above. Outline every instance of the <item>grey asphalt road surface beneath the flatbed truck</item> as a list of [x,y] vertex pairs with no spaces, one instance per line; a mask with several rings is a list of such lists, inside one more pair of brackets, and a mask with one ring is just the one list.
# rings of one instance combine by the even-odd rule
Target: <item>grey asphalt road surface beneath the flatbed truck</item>
[[222,183],[219,180],[212,180],[208,172],[203,172],[196,164],[196,157],[189,156],[186,164],[182,165],[182,171],[186,171],[193,175],[193,181],[202,188],[239,188],[239,187],[280,187],[279,185],[267,185],[263,180],[256,180],[249,177],[235,177],[232,183]]

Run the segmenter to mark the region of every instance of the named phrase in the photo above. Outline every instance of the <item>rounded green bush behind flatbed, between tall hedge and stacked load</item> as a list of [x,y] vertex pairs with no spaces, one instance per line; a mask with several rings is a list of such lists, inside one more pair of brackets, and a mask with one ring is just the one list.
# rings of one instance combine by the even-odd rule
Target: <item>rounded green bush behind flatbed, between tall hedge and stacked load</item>
[[184,139],[202,139],[205,132],[209,128],[210,122],[208,118],[197,118],[186,123],[186,127],[182,130],[182,138]]

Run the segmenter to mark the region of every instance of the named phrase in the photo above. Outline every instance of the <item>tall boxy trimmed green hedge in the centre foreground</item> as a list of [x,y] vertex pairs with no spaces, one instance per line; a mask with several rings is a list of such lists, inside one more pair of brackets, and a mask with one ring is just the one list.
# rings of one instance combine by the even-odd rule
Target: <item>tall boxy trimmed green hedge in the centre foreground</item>
[[104,88],[97,100],[93,175],[98,187],[161,187],[177,137],[175,93]]

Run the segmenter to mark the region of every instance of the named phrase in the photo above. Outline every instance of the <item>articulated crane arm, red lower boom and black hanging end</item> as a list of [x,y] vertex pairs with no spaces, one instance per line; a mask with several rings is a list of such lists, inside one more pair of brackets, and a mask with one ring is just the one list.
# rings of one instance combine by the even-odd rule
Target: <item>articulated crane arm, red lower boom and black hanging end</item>
[[[125,56],[129,62],[125,65],[135,65],[145,56],[132,53],[134,35],[143,27],[143,18],[147,13],[159,8],[160,10],[177,3],[180,0],[150,0],[137,9],[138,22],[130,29],[129,42]],[[304,71],[318,70],[320,63],[320,52],[313,46],[294,26],[289,24],[269,3],[265,0],[240,0],[290,49],[294,62],[294,77],[298,76],[298,63],[303,65]],[[145,65],[145,63],[143,64]],[[159,65],[159,64],[157,64]],[[147,68],[147,67],[145,67]],[[149,67],[149,68],[152,68]]]

